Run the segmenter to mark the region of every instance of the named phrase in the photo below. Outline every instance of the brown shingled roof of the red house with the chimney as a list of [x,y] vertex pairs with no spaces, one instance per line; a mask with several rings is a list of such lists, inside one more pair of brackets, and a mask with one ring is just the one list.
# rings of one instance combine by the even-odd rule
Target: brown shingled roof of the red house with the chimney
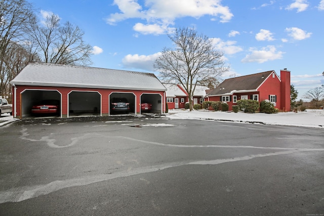
[[225,79],[209,96],[231,95],[237,92],[255,92],[274,70]]

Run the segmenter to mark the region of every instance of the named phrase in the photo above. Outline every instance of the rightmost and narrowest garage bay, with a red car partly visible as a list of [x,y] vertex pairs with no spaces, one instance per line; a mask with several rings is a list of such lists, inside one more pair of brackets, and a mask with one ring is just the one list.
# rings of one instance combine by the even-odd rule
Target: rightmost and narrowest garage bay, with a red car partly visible
[[141,106],[141,113],[156,113],[162,114],[162,96],[159,94],[142,94],[141,104],[148,104]]

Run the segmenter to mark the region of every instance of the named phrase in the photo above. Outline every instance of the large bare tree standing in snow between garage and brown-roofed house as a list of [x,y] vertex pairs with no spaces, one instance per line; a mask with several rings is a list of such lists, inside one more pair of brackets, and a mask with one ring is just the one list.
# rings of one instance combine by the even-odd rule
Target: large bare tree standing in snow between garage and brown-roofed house
[[215,50],[213,41],[206,35],[198,35],[192,28],[177,28],[174,35],[168,34],[175,48],[164,48],[155,60],[154,68],[164,82],[179,83],[192,97],[196,85],[216,78],[229,67],[225,67],[223,52]]

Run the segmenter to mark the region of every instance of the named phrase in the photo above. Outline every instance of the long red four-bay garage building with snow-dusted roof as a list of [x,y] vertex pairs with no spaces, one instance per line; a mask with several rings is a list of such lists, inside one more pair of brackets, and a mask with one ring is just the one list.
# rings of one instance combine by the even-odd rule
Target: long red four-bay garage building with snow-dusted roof
[[41,100],[57,100],[60,117],[77,113],[110,115],[113,98],[127,98],[130,111],[140,114],[141,101],[152,104],[152,112],[165,112],[166,88],[153,73],[94,67],[30,63],[12,81],[13,115],[31,115]]

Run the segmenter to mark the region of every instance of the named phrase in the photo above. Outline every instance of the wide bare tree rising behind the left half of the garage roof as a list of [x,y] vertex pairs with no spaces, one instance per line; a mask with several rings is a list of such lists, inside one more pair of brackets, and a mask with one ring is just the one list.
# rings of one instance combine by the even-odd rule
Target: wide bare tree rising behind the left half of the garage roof
[[[45,24],[45,25],[44,25]],[[29,35],[42,61],[54,64],[90,65],[92,47],[83,40],[84,32],[70,22],[60,25],[60,18],[51,14],[44,24],[37,20],[30,26]]]

